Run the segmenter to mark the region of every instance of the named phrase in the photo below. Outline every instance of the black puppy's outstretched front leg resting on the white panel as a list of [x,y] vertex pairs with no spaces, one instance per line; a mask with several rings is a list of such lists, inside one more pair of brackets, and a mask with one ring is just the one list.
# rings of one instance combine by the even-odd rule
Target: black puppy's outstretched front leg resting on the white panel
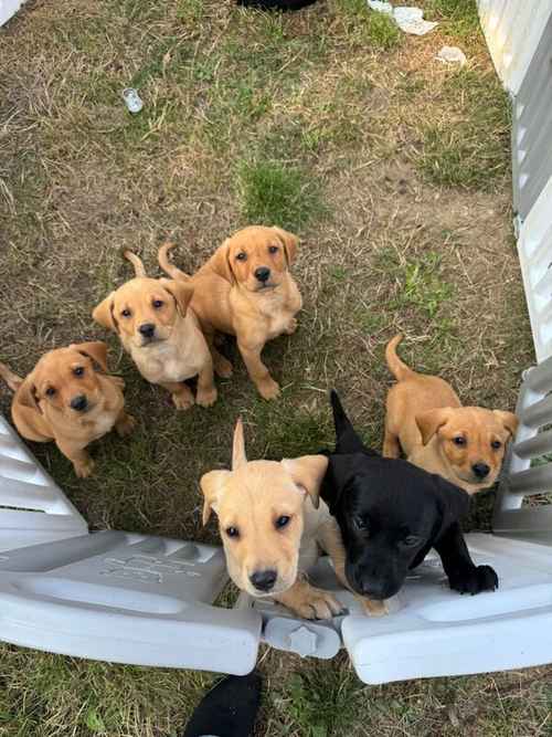
[[490,566],[471,560],[458,523],[454,523],[435,545],[450,588],[460,593],[479,593],[498,589],[498,576]]

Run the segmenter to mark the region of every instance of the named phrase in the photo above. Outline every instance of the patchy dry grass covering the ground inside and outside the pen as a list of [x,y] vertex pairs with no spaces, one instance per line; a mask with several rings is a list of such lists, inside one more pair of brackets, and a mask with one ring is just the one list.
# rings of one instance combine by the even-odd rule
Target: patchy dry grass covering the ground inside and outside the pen
[[[469,403],[511,409],[532,358],[510,229],[508,106],[475,3],[426,0],[439,21],[402,35],[364,0],[267,14],[216,0],[26,3],[2,29],[0,360],[25,373],[74,340],[106,339],[138,427],[93,446],[75,478],[52,445],[32,451],[93,529],[215,543],[198,480],[229,463],[242,414],[248,456],[311,453],[332,440],[337,387],[381,444],[386,340]],[[468,65],[434,61],[458,44]],[[138,87],[131,116],[120,97]],[[252,221],[301,236],[297,334],[264,359],[283,387],[257,398],[235,345],[210,410],[172,410],[91,313],[129,277],[123,248],[157,275],[159,242],[197,269]],[[492,381],[489,381],[489,375]],[[0,390],[2,412],[10,397]],[[493,493],[468,520],[488,528]],[[227,590],[221,606],[230,606]],[[301,661],[263,649],[258,737],[539,736],[550,667],[363,686],[342,653]],[[293,678],[290,675],[295,674]],[[173,737],[211,674],[0,647],[1,737]]]

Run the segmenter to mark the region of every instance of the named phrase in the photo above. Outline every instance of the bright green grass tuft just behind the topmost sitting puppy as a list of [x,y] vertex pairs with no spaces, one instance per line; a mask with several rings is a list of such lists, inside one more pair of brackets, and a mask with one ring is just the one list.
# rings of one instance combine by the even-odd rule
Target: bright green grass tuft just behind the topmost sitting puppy
[[300,230],[323,212],[319,189],[299,167],[279,161],[242,161],[237,168],[244,221]]

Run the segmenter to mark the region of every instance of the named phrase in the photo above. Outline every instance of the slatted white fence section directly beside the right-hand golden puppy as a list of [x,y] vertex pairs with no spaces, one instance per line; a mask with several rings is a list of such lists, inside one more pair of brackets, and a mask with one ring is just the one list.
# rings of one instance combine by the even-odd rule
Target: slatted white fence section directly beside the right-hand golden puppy
[[[520,420],[500,483],[492,529],[496,534],[552,545],[552,358],[529,369],[516,413]],[[544,497],[545,498],[545,497]],[[550,498],[550,497],[549,497]],[[523,501],[534,504],[523,505]]]

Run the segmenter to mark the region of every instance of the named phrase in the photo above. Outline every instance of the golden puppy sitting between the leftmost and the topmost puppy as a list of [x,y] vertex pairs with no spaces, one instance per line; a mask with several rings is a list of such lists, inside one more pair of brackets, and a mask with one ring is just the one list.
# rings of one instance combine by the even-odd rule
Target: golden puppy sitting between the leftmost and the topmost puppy
[[112,292],[92,313],[96,323],[114,330],[142,377],[172,394],[179,410],[193,404],[184,383],[198,376],[195,401],[216,401],[213,361],[198,318],[189,307],[193,287],[182,281],[148,278],[137,255],[125,251],[136,278]]

